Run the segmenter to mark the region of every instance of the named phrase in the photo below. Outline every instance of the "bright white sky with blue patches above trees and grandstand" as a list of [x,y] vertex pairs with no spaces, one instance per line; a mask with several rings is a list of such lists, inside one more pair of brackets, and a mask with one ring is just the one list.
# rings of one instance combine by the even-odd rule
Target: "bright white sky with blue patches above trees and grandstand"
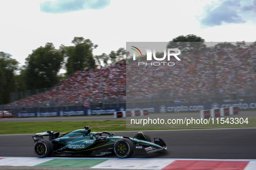
[[[206,42],[256,41],[256,0],[0,0],[0,51],[20,65],[47,42],[89,38],[94,55],[126,42],[168,42],[194,34]],[[62,70],[62,72],[65,72]]]

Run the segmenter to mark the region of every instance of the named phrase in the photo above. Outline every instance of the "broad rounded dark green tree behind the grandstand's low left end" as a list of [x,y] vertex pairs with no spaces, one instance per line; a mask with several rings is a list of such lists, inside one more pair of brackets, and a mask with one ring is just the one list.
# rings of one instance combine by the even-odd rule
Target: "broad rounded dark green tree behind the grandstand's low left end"
[[49,88],[57,82],[63,55],[52,43],[33,50],[26,58],[25,82],[28,89]]

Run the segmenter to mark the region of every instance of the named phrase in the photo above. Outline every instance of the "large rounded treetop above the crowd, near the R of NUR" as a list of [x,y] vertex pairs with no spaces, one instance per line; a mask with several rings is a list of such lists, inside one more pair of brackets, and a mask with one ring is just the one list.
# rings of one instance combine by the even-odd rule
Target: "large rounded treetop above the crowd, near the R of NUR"
[[169,41],[166,48],[178,48],[181,50],[181,54],[191,53],[198,50],[206,49],[204,44],[204,39],[193,34],[189,35],[180,35],[176,38],[173,38],[172,41]]

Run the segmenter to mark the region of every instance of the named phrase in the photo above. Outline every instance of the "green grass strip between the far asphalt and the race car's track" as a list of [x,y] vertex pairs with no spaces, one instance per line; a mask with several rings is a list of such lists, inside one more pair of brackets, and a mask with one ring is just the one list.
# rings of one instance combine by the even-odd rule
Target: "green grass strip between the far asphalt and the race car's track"
[[[225,118],[224,120],[226,120]],[[166,122],[167,120],[165,120]],[[243,124],[217,124],[217,120],[212,120],[209,124],[147,124],[131,125],[126,120],[105,120],[105,121],[57,121],[57,122],[2,122],[0,123],[0,135],[8,134],[33,134],[52,130],[55,132],[70,132],[76,129],[83,129],[84,126],[91,126],[92,132],[102,131],[142,131],[142,130],[167,130],[167,129],[226,129],[226,128],[255,128],[256,118],[248,118],[249,123]]]

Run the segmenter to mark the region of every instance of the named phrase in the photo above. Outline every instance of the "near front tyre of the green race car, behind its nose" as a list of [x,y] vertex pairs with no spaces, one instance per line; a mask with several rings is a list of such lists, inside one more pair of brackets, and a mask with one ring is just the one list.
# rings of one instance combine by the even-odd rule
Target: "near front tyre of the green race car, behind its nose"
[[133,151],[134,145],[130,139],[119,139],[114,145],[114,152],[120,158],[130,157]]

